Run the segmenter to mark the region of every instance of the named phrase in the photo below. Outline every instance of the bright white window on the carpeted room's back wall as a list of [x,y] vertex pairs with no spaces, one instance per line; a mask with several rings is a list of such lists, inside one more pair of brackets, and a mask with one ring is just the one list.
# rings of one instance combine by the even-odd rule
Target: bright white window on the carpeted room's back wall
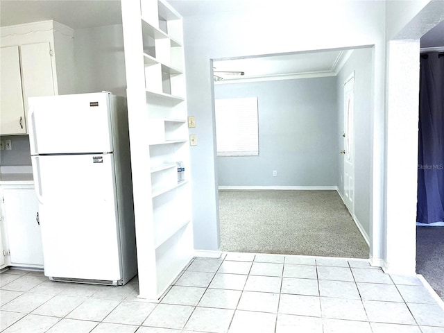
[[214,104],[217,155],[259,155],[257,97],[216,99]]

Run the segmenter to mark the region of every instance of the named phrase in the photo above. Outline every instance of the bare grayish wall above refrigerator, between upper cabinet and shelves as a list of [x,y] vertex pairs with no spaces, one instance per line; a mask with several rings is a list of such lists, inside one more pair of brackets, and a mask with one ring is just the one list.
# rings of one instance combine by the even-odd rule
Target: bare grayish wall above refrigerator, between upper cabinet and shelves
[[117,24],[74,31],[76,92],[126,96],[123,30]]

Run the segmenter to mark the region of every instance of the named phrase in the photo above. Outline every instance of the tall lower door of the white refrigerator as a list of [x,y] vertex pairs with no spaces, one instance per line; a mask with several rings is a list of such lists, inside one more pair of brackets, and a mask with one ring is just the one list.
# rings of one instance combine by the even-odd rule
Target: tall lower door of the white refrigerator
[[45,275],[121,280],[113,155],[44,155],[32,162]]

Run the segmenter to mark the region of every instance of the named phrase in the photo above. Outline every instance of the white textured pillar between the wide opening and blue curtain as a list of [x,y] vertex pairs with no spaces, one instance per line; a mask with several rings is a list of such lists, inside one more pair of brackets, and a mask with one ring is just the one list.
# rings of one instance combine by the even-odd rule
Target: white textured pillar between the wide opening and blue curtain
[[384,133],[386,143],[386,197],[384,225],[382,225],[384,231],[382,234],[385,237],[384,268],[388,273],[414,273],[419,39],[444,19],[444,1],[409,1],[403,10],[400,10],[396,1],[389,1],[386,19],[390,24],[387,26]]

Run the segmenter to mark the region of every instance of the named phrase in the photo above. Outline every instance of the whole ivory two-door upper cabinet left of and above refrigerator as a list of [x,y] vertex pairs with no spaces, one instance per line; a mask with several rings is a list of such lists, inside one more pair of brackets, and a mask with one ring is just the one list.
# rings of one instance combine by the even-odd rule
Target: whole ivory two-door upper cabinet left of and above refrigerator
[[75,92],[73,35],[53,21],[1,28],[0,135],[28,134],[28,97]]

